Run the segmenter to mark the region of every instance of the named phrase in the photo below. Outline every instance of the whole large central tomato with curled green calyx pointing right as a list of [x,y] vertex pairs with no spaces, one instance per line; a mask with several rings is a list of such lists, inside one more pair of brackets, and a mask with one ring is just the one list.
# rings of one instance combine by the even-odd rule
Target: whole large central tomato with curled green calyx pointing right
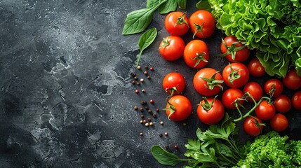
[[204,68],[194,75],[194,88],[203,96],[213,96],[222,90],[222,76],[212,68]]

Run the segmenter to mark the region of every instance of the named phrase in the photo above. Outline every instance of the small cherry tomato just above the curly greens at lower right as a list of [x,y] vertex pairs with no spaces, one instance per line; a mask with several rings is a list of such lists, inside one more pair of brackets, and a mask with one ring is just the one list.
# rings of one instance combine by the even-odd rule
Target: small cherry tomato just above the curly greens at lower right
[[281,113],[276,113],[269,123],[274,131],[283,132],[288,127],[288,118]]

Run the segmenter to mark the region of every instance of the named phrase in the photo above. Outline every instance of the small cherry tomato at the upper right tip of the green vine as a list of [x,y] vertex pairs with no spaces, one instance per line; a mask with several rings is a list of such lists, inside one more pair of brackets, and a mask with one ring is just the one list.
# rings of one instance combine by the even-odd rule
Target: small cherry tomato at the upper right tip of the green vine
[[270,95],[270,92],[272,92],[272,97],[279,97],[283,91],[283,84],[279,79],[272,78],[265,82],[264,88],[265,93]]

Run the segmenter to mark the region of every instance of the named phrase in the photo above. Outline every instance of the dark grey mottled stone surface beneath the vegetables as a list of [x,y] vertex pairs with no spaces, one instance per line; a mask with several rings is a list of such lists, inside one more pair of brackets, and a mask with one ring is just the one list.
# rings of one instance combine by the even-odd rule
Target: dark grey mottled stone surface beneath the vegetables
[[[188,1],[188,15],[195,3]],[[159,34],[141,59],[142,68],[154,67],[148,70],[152,78],[135,69],[141,34],[121,32],[126,14],[139,8],[145,1],[0,1],[0,167],[162,167],[149,152],[154,145],[170,146],[168,151],[183,157],[187,138],[196,137],[197,127],[206,128],[195,113],[201,100],[192,87],[197,70],[182,59],[161,58],[157,48],[168,33],[158,13],[150,27]],[[227,62],[213,55],[219,54],[221,37],[216,30],[204,39],[208,66],[220,71]],[[187,42],[192,34],[184,38]],[[172,71],[184,74],[184,94],[194,113],[175,123],[160,111],[154,127],[144,127],[133,107],[154,99],[149,108],[162,109],[167,94],[161,80]],[[131,72],[145,83],[133,86]],[[135,94],[137,88],[146,93]],[[300,113],[292,110],[288,116],[292,122],[286,133],[300,139],[293,133],[300,131]],[[163,132],[169,136],[159,137]]]

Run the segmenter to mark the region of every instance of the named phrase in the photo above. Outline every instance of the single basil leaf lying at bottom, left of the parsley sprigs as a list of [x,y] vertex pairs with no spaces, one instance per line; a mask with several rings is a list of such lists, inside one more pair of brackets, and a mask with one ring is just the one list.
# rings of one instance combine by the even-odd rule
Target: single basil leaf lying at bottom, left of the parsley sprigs
[[173,153],[169,153],[168,151],[165,151],[160,146],[153,146],[151,152],[154,158],[161,165],[175,166],[178,165],[178,163],[180,162],[187,161],[179,158],[177,155],[174,155]]

